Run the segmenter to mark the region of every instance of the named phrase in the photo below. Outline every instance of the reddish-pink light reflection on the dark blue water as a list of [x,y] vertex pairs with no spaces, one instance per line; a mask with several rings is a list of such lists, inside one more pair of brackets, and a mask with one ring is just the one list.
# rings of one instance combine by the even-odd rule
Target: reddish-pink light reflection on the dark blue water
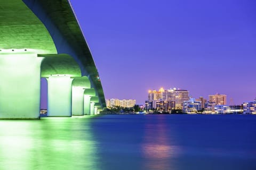
[[[173,145],[172,139],[167,134],[167,126],[163,115],[157,117],[147,116],[147,119],[154,118],[157,124],[146,123],[142,152],[146,158],[144,169],[168,169],[172,166],[172,158],[178,155],[178,146]],[[169,130],[170,132],[170,130]]]

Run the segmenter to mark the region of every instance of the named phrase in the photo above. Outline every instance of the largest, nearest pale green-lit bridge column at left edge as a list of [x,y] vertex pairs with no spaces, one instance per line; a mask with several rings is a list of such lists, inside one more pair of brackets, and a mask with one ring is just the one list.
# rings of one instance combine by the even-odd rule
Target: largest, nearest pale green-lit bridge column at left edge
[[0,52],[0,118],[39,118],[40,65],[29,52]]

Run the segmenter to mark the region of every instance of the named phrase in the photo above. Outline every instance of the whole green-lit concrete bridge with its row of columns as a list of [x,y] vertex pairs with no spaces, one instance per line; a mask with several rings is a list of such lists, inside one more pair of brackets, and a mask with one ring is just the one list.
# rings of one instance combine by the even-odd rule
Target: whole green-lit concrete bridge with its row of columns
[[0,0],[0,118],[38,118],[106,107],[99,73],[68,0]]

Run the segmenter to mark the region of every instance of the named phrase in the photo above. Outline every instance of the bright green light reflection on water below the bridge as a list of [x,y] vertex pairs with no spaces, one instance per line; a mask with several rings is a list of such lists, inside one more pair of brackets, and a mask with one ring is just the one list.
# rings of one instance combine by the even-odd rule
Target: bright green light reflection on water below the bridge
[[99,169],[90,121],[0,121],[0,169]]

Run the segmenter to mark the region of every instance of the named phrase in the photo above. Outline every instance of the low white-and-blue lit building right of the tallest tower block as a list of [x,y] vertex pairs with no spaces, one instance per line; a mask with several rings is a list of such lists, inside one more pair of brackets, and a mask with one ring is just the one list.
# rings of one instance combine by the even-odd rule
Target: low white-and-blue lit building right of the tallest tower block
[[197,101],[195,98],[190,98],[183,102],[182,111],[186,113],[197,113],[202,110],[202,101]]

